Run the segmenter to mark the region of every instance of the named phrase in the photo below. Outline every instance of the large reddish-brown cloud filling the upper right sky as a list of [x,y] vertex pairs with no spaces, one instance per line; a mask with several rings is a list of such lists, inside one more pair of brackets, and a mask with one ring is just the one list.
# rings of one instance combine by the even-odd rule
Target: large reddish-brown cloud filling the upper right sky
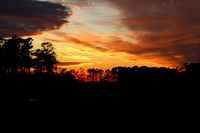
[[127,27],[137,40],[110,38],[104,44],[110,50],[165,66],[200,59],[200,0],[104,1],[121,12],[119,27]]

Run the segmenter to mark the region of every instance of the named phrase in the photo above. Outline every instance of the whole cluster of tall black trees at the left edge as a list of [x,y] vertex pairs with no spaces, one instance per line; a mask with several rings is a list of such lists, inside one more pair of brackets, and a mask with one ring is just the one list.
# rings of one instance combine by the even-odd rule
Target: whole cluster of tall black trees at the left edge
[[52,73],[58,63],[53,45],[44,42],[41,49],[32,50],[32,42],[32,38],[17,35],[0,38],[0,72],[30,74],[34,69],[36,73]]

